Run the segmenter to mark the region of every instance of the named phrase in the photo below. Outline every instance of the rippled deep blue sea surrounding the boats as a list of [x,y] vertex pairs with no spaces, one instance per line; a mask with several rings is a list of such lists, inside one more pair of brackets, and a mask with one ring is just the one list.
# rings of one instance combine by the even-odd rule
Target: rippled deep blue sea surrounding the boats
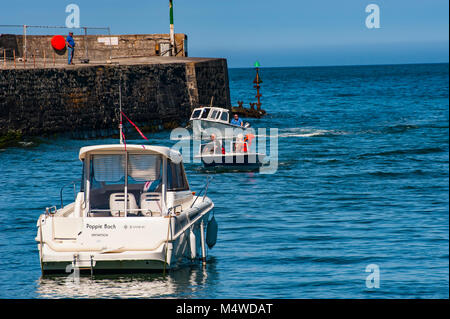
[[[80,147],[115,140],[0,150],[0,297],[448,298],[448,71],[263,68],[269,115],[251,121],[278,128],[278,171],[214,174],[208,194],[219,236],[209,264],[166,278],[41,278],[37,217],[80,177]],[[248,106],[254,70],[229,75],[233,104]],[[148,137],[172,145],[169,133]],[[199,190],[206,172],[198,164],[187,172]],[[366,287],[370,264],[379,267],[379,288]]]

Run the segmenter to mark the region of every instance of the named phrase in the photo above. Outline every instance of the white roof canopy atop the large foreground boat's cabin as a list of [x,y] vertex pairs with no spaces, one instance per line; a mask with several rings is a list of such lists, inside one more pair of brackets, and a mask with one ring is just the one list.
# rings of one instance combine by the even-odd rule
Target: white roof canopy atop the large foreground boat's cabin
[[80,149],[79,158],[84,160],[89,153],[95,154],[108,154],[111,152],[120,151],[133,152],[133,154],[159,154],[166,158],[169,158],[174,163],[180,163],[182,160],[181,154],[178,151],[172,150],[169,147],[164,146],[148,146],[148,145],[135,145],[135,144],[106,144],[106,145],[94,145],[86,146]]

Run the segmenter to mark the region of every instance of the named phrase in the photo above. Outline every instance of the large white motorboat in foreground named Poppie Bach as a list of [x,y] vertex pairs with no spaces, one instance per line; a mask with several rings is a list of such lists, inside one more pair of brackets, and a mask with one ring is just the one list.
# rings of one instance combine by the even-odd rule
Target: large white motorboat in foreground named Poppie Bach
[[160,271],[200,255],[205,262],[205,241],[212,247],[217,238],[217,224],[206,231],[214,207],[209,182],[203,195],[191,192],[179,152],[96,145],[81,148],[79,159],[75,201],[47,208],[37,221],[43,274]]

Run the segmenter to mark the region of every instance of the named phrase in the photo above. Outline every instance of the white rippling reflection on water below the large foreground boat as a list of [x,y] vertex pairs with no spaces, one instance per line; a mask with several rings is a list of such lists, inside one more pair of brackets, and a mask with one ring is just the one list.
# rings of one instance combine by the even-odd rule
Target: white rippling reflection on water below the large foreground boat
[[67,275],[41,277],[40,298],[191,298],[207,297],[208,282],[217,279],[214,259],[200,265],[161,273],[81,276],[77,282]]

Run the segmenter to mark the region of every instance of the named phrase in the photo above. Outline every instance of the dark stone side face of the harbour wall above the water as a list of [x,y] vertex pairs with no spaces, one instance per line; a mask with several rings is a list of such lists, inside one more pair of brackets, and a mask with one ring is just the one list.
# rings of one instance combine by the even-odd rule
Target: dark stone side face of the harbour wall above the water
[[230,107],[225,59],[0,70],[0,137],[117,134],[124,113],[146,131],[185,124],[193,108]]

